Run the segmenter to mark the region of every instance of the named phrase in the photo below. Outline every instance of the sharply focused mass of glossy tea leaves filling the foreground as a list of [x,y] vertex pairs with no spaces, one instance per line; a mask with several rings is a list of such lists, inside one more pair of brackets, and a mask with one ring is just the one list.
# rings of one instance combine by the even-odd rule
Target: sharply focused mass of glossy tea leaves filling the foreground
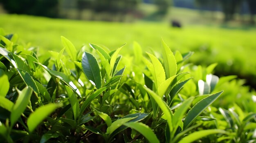
[[216,64],[186,64],[192,52],[173,54],[162,41],[162,56],[144,57],[135,42],[135,56],[121,60],[124,45],[77,51],[61,37],[64,48],[47,59],[15,44],[17,35],[0,40],[1,141],[256,141],[256,97],[211,106],[234,77],[212,75]]

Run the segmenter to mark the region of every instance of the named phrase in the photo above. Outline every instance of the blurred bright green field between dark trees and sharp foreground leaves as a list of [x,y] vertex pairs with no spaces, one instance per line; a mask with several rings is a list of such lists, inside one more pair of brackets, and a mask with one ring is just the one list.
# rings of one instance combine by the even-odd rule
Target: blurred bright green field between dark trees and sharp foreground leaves
[[150,48],[158,51],[163,38],[173,51],[195,51],[192,62],[205,65],[218,62],[218,75],[236,74],[256,87],[256,28],[252,27],[231,29],[215,24],[186,24],[175,29],[168,22],[88,22],[7,14],[0,15],[0,27],[6,33],[17,33],[21,44],[39,46],[42,53],[60,51],[61,35],[77,49],[88,43],[110,49],[127,43],[122,54],[132,54],[133,41],[141,44],[144,51]]

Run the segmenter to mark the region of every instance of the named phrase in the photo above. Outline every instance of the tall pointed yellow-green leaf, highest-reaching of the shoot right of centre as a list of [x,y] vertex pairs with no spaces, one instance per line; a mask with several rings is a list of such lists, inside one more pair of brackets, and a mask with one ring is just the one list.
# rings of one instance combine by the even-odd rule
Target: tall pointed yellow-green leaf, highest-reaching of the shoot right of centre
[[162,46],[164,47],[163,58],[164,58],[164,69],[166,72],[166,78],[170,78],[173,75],[176,75],[177,72],[177,63],[171,49],[166,45],[162,39]]

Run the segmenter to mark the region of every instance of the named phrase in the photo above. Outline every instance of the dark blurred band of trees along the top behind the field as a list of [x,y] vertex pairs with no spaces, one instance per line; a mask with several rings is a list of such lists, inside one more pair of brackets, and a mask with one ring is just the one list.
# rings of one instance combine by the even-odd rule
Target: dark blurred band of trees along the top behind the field
[[[52,18],[83,20],[126,21],[134,18],[161,20],[171,6],[199,9],[201,12],[222,11],[223,22],[234,20],[234,15],[250,15],[254,24],[256,0],[0,0],[8,13],[39,15]],[[154,11],[144,11],[145,5]]]

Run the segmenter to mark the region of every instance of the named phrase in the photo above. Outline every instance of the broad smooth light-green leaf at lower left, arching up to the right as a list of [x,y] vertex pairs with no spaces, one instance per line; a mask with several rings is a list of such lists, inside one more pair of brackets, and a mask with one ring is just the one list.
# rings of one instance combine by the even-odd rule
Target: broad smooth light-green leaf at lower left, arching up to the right
[[36,127],[57,107],[58,105],[54,103],[49,103],[45,106],[37,108],[35,112],[31,113],[29,118],[27,119],[27,126],[29,128],[29,132],[32,133],[36,129]]

